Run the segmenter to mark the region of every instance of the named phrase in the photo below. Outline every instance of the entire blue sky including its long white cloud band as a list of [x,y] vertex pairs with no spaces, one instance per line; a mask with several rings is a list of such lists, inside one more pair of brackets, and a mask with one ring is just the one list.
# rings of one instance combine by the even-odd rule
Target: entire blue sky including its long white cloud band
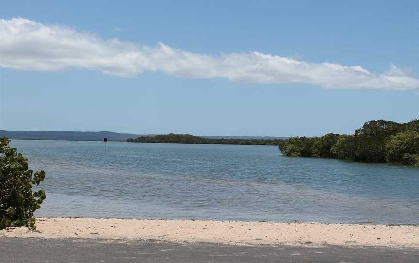
[[0,1],[0,129],[321,136],[419,118],[405,1]]

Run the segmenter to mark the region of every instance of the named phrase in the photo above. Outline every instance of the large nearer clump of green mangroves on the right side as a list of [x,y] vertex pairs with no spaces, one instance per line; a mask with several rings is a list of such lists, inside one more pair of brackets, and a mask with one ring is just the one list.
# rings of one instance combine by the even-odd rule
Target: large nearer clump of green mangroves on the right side
[[372,120],[355,130],[355,135],[290,137],[280,142],[279,150],[287,156],[419,166],[419,120]]

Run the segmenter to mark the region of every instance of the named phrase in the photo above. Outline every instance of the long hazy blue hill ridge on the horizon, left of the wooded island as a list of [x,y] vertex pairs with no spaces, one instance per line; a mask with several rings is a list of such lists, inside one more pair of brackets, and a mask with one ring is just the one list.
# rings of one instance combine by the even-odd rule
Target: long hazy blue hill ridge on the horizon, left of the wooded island
[[[0,137],[9,139],[31,140],[70,140],[70,141],[101,141],[108,138],[109,141],[125,141],[141,135],[130,133],[117,133],[111,131],[6,131],[0,130]],[[143,135],[147,136],[147,135]]]

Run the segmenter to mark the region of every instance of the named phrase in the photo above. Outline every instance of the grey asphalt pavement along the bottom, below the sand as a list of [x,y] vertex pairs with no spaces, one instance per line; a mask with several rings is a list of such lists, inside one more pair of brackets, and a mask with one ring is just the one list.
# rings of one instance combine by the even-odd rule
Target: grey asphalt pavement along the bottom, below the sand
[[0,238],[0,262],[403,262],[418,263],[419,249],[385,247],[235,246],[146,241]]

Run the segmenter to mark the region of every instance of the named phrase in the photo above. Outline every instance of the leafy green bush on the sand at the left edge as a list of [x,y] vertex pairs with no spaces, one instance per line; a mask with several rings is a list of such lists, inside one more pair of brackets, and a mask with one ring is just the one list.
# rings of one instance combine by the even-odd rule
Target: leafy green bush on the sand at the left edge
[[0,229],[36,228],[33,213],[46,195],[43,190],[32,192],[32,184],[38,186],[44,178],[44,171],[33,174],[28,169],[28,159],[11,148],[7,138],[0,138]]

